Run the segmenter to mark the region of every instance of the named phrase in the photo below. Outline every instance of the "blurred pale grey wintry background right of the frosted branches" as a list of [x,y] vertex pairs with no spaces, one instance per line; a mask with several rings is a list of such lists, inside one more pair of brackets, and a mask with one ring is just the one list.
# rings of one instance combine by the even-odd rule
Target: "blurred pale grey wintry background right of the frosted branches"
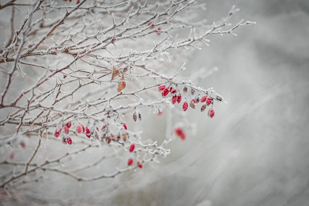
[[217,103],[211,120],[193,112],[197,134],[173,143],[161,167],[113,203],[309,205],[309,2],[207,1],[201,15],[212,22],[232,5],[240,9],[232,22],[257,24],[210,37],[186,64],[217,66],[201,86],[228,104]]

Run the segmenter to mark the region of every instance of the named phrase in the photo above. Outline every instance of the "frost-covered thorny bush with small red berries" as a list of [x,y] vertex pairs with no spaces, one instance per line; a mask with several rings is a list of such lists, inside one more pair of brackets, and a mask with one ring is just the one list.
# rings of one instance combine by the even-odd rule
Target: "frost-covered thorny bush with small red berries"
[[[209,36],[234,34],[237,28],[252,24],[241,21],[229,27],[229,19],[238,11],[233,7],[225,19],[207,25],[196,15],[195,10],[204,8],[198,0],[167,0],[160,4],[138,0],[37,0],[20,4],[9,0],[1,4],[0,10],[10,7],[12,16],[6,16],[6,25],[2,26],[7,29],[0,31],[5,39],[0,53],[0,69],[5,77],[1,79],[0,145],[16,149],[26,138],[31,144],[27,142],[28,153],[23,155],[25,168],[19,169],[20,163],[1,163],[12,166],[6,178],[0,180],[0,187],[5,189],[27,183],[29,174],[38,181],[39,170],[77,181],[94,181],[165,157],[170,153],[165,149],[169,141],[150,141],[135,129],[136,124],[153,127],[143,110],[157,114],[163,109],[186,111],[189,105],[195,109],[206,102],[201,111],[211,104],[208,115],[212,118],[214,104],[223,102],[223,97],[212,88],[195,86],[194,80],[183,76],[184,61],[195,48],[208,45]],[[27,12],[18,19],[15,10]],[[11,34],[6,36],[5,30]],[[180,32],[187,37],[178,37]],[[171,121],[179,118],[177,112],[173,115]],[[182,140],[190,135],[181,128],[174,132]],[[157,145],[157,141],[163,142]],[[45,150],[43,144],[44,148],[60,148],[63,154],[45,153],[53,149]],[[73,170],[57,167],[79,153],[91,153],[93,148],[112,148],[113,153],[103,158],[100,153],[94,162],[84,162]],[[118,165],[108,167],[115,169],[112,173],[107,170],[97,177],[77,173],[106,159],[127,159],[121,158],[128,155],[125,148],[134,151],[130,155],[138,160],[136,166],[130,166],[131,158],[122,169]],[[10,157],[10,153],[7,150],[1,156]]]

